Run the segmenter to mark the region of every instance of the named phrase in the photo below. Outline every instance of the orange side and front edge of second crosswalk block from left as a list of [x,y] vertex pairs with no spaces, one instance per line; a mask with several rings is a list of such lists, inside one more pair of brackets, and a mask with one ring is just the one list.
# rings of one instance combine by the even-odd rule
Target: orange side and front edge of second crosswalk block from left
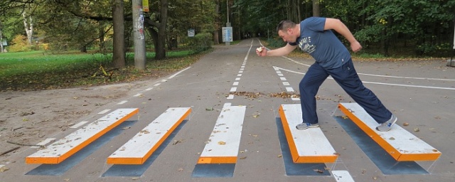
[[183,119],[188,117],[188,114],[190,114],[190,113],[191,113],[191,108],[188,108],[188,111],[186,111],[185,114],[183,114],[182,117],[180,119],[178,119],[178,121],[175,124],[173,124],[171,129],[168,129],[168,132],[166,132],[166,134],[164,134],[164,136],[161,137],[161,139],[159,139],[159,141],[157,141],[156,144],[153,147],[151,147],[151,149],[142,158],[129,158],[129,157],[109,158],[108,157],[107,164],[144,164],[145,161],[147,161],[147,159],[149,159],[151,154],[153,154],[154,151],[156,151],[156,149],[158,149],[159,146],[161,146],[161,144],[163,144],[163,142],[169,137],[169,135],[171,135],[173,130],[175,130],[178,127],[178,125],[180,125],[181,122],[183,122]]

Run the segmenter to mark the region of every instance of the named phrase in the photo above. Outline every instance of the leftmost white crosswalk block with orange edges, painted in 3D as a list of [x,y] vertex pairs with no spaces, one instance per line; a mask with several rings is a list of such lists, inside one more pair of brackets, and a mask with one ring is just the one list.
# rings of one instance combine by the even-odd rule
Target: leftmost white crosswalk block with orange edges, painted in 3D
[[113,112],[88,124],[86,127],[77,129],[68,136],[55,141],[47,148],[37,151],[26,157],[27,164],[59,164],[68,157],[83,149],[109,130],[117,127],[129,117],[137,114],[139,109],[116,109]]

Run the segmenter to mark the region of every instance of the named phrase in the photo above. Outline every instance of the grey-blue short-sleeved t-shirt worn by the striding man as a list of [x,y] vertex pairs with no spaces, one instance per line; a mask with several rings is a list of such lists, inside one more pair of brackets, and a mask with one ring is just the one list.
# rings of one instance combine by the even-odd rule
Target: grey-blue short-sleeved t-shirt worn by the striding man
[[311,17],[300,22],[300,37],[296,43],[323,68],[339,68],[350,60],[350,53],[331,30],[324,31],[326,18]]

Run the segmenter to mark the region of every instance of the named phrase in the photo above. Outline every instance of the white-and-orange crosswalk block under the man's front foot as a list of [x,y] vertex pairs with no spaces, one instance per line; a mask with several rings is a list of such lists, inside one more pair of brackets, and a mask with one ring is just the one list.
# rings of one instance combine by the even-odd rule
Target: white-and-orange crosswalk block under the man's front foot
[[301,123],[299,104],[281,105],[279,115],[282,118],[284,134],[294,163],[333,163],[336,161],[338,155],[321,128],[296,129],[296,125]]

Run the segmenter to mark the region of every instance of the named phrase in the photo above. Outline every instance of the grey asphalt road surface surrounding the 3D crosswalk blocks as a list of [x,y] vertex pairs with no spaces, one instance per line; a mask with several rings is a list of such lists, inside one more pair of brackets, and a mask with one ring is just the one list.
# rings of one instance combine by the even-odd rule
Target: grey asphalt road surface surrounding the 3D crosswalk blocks
[[[417,162],[427,173],[385,174],[336,120],[342,115],[338,102],[352,102],[341,87],[326,80],[318,94],[321,129],[340,156],[334,164],[325,164],[328,176],[289,176],[285,170],[277,129],[278,109],[283,104],[298,104],[291,98],[270,97],[298,91],[299,81],[314,61],[303,58],[267,57],[255,54],[257,39],[238,45],[218,46],[191,67],[160,80],[150,80],[131,94],[105,109],[139,108],[100,146],[80,159],[62,166],[9,164],[14,170],[0,173],[0,181],[337,181],[330,171],[348,171],[353,181],[454,181],[455,180],[455,69],[446,60],[406,62],[355,61],[365,86],[373,90],[397,117],[397,124],[441,151],[437,161]],[[282,75],[279,75],[279,74]],[[289,82],[285,85],[284,82]],[[230,96],[230,92],[241,92]],[[250,93],[259,97],[247,97]],[[122,102],[121,104],[119,102]],[[223,105],[246,106],[239,154],[230,177],[195,177],[193,172],[205,141]],[[156,159],[137,169],[140,176],[127,176],[124,170],[112,171],[106,158],[168,107],[191,107],[192,112]],[[213,108],[213,109],[212,109]],[[92,114],[97,119],[102,114]],[[418,132],[414,130],[419,129]],[[65,137],[68,130],[55,134]],[[104,143],[103,143],[104,142]],[[11,156],[25,159],[36,149]],[[69,167],[68,167],[69,166]],[[50,169],[53,168],[53,169]],[[68,169],[63,169],[68,168]],[[54,171],[53,171],[54,170]],[[60,170],[60,171],[59,171]],[[142,170],[142,171],[141,171]],[[304,170],[304,169],[302,169]],[[312,170],[312,169],[311,169]],[[400,171],[400,168],[394,169]],[[33,171],[34,174],[30,174]],[[115,176],[117,173],[117,176]],[[346,176],[345,179],[348,177]]]

